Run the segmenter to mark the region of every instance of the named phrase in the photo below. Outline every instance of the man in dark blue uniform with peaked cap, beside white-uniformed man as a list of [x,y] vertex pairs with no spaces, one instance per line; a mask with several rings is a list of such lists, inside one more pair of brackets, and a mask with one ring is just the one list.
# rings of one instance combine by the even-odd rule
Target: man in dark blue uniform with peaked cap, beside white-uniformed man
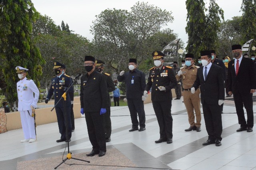
[[[62,98],[62,95],[66,92],[66,101],[64,102],[64,99],[62,99],[63,101],[60,101],[55,106],[59,132],[61,134],[60,139],[57,140],[56,142],[63,142],[63,141],[68,142],[70,141],[70,138],[71,138],[71,119],[70,119],[71,101],[70,101],[70,96],[68,91],[69,90],[73,91],[73,88],[71,87],[68,90],[68,87],[72,84],[72,82],[71,82],[70,76],[63,74],[64,68],[65,68],[65,65],[59,62],[54,62],[53,69],[57,76],[54,76],[52,78],[51,87],[48,91],[48,95],[46,96],[46,100],[44,101],[47,104],[54,93],[54,104],[56,105],[57,102]],[[64,112],[64,104],[66,104],[65,106],[66,115]],[[66,136],[66,129],[68,131],[68,136]]]

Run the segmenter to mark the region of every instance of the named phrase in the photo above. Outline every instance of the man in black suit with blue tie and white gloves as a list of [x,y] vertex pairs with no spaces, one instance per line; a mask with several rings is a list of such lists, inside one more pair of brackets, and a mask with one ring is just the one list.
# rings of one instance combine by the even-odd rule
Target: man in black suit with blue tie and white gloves
[[225,99],[223,70],[220,66],[212,64],[211,51],[201,51],[200,54],[203,67],[198,68],[196,81],[191,88],[191,92],[195,93],[200,86],[204,121],[209,135],[208,140],[203,145],[215,143],[218,147],[221,145],[222,140],[220,105],[224,103]]

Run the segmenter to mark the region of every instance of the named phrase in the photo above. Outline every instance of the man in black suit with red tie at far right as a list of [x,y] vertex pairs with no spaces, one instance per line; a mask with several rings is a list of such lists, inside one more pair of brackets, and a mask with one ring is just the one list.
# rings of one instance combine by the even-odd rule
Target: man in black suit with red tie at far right
[[[240,128],[237,132],[252,132],[253,127],[253,109],[252,94],[256,88],[256,78],[254,64],[252,59],[242,57],[241,45],[232,45],[232,54],[234,59],[228,63],[228,94],[234,94],[236,105],[236,114]],[[244,108],[247,113],[247,123],[244,117]]]

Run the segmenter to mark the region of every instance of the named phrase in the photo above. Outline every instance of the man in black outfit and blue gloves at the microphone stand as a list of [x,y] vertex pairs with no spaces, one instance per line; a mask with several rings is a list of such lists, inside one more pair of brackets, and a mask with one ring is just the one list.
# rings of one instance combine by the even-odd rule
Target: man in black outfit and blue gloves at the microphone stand
[[108,86],[103,74],[95,70],[95,58],[84,57],[84,66],[87,71],[81,77],[81,111],[85,120],[92,152],[86,156],[104,156],[106,154],[106,139],[103,127],[103,115],[108,107]]

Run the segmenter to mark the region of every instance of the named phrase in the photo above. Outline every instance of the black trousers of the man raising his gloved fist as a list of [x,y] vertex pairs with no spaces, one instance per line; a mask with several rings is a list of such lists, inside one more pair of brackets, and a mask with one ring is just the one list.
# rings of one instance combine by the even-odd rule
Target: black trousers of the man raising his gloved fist
[[[132,127],[137,128],[138,125],[140,125],[140,128],[145,127],[146,117],[142,99],[127,99],[127,104],[132,119]],[[140,122],[137,119],[137,113]]]

